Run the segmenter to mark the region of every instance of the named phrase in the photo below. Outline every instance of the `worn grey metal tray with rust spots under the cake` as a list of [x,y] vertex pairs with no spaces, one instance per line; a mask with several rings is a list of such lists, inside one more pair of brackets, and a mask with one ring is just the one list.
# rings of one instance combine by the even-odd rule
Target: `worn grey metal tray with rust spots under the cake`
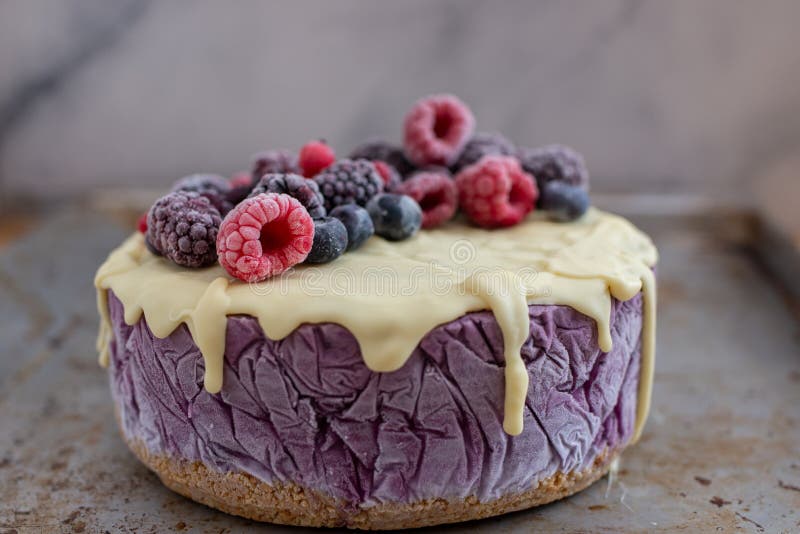
[[[754,226],[732,214],[634,221],[661,253],[642,440],[612,480],[446,530],[800,531],[800,321],[754,253]],[[92,277],[125,234],[67,213],[0,250],[0,532],[302,531],[170,492],[118,437]]]

